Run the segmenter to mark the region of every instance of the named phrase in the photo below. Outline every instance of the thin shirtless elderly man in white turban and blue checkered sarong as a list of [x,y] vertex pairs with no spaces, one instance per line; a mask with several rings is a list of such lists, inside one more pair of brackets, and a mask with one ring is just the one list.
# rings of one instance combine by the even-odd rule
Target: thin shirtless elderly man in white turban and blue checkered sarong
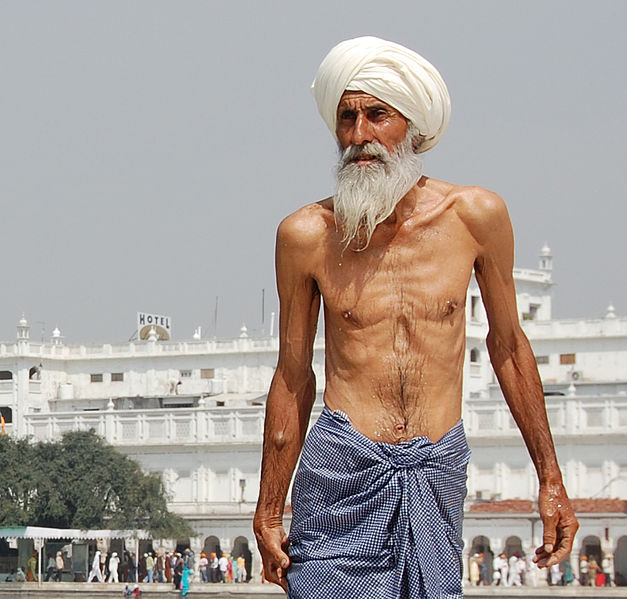
[[[312,87],[341,156],[334,196],[287,217],[277,235],[280,351],[255,515],[266,578],[292,599],[462,597],[473,269],[492,364],[539,476],[535,561],[558,563],[578,525],[519,326],[505,204],[422,174],[419,154],[449,120],[444,81],[415,52],[368,37],[333,48]],[[321,298],[325,407],[305,442]],[[283,509],[301,449],[288,539]]]

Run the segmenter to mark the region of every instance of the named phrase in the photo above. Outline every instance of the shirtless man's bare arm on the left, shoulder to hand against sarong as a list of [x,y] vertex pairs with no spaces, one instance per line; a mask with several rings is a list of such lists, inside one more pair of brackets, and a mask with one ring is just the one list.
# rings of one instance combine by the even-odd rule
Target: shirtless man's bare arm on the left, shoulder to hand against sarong
[[306,210],[285,219],[277,233],[279,360],[266,403],[261,483],[254,519],[265,577],[286,590],[289,541],[283,529],[283,510],[316,395],[311,362],[320,294],[310,273],[316,239],[310,219],[304,218]]

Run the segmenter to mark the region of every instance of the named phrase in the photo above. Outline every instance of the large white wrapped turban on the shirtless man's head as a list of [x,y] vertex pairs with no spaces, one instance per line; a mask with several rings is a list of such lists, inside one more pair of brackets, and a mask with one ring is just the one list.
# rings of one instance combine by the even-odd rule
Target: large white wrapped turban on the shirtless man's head
[[421,152],[440,141],[451,116],[448,90],[435,67],[413,50],[377,37],[358,37],[332,48],[311,90],[334,136],[337,105],[347,90],[396,108],[425,136]]

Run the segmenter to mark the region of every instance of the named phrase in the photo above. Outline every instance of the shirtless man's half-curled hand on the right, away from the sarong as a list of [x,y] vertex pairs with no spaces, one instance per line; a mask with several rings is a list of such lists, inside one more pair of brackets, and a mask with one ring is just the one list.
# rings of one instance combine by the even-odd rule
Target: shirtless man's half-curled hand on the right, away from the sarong
[[543,544],[533,561],[539,568],[550,568],[572,551],[579,522],[561,483],[540,485],[538,509],[544,525]]

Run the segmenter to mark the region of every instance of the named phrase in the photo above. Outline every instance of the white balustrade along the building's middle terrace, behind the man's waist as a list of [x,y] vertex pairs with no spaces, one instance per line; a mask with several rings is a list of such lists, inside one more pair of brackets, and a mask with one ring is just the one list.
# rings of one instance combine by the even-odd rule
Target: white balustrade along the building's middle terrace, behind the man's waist
[[[312,422],[320,414],[316,404]],[[547,399],[551,430],[560,435],[627,435],[627,397],[559,397]],[[25,415],[25,433],[52,440],[66,431],[89,430],[119,446],[261,444],[263,406],[199,407],[153,410],[104,410]],[[464,409],[468,437],[518,437],[504,402],[469,400]]]

